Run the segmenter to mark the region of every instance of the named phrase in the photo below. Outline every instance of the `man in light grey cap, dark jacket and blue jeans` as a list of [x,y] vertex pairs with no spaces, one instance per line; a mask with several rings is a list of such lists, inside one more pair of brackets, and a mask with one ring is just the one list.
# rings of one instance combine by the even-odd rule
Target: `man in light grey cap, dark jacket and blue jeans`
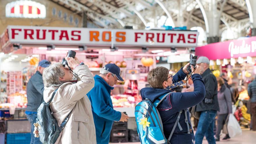
[[199,57],[196,63],[202,67],[201,74],[205,82],[206,94],[205,99],[196,106],[196,111],[201,112],[201,115],[195,134],[195,144],[202,144],[204,136],[206,136],[209,144],[215,144],[214,122],[217,111],[220,110],[217,96],[217,80],[209,69],[210,61],[207,57]]

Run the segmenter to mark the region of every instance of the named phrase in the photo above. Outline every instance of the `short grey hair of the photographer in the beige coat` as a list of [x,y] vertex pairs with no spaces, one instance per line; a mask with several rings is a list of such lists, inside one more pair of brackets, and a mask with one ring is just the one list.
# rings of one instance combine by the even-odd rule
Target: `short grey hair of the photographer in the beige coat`
[[63,84],[59,77],[64,77],[65,71],[61,63],[54,63],[43,71],[43,82],[45,87],[60,86]]

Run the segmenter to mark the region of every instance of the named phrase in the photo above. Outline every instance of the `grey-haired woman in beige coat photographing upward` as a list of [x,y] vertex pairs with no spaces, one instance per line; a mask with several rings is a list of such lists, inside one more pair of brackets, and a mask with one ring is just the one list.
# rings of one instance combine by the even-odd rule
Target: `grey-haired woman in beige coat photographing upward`
[[72,81],[73,74],[61,63],[52,64],[43,73],[45,102],[49,102],[58,88],[50,107],[59,126],[71,112],[55,144],[96,144],[91,104],[86,96],[94,87],[93,75],[87,65],[79,65],[77,58],[66,57],[66,60],[80,79],[77,83]]

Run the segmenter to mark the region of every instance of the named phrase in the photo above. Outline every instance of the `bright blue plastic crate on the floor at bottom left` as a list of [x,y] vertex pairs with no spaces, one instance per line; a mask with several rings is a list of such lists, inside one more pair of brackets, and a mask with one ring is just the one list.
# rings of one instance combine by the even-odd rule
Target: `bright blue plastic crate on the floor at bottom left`
[[30,144],[30,133],[6,134],[7,144]]

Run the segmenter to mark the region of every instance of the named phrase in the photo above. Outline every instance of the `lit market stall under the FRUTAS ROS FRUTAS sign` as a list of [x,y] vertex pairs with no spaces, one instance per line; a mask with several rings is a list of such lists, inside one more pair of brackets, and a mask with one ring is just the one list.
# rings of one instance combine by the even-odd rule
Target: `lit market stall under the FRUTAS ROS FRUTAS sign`
[[[17,63],[26,63],[27,66],[16,72],[20,74],[20,79],[17,79],[22,85],[20,89],[14,88],[11,91],[12,86],[16,85],[7,84],[10,90],[6,88],[7,100],[2,103],[8,102],[16,108],[25,108],[26,99],[20,96],[22,104],[17,104],[12,95],[16,93],[26,97],[26,83],[35,72],[38,61],[47,59],[52,63],[59,62],[68,50],[74,50],[79,60],[90,67],[93,75],[99,74],[99,70],[107,63],[115,63],[120,67],[125,82],[114,85],[111,99],[115,110],[125,111],[131,117],[127,127],[134,129],[134,106],[141,101],[139,90],[148,86],[147,72],[156,67],[156,57],[168,56],[174,47],[175,54],[187,53],[186,48],[197,45],[197,37],[197,31],[8,26],[1,35],[1,45],[2,52],[10,55],[5,55],[2,61],[9,63],[9,57],[21,54],[25,56]],[[4,110],[10,107],[6,106]]]

